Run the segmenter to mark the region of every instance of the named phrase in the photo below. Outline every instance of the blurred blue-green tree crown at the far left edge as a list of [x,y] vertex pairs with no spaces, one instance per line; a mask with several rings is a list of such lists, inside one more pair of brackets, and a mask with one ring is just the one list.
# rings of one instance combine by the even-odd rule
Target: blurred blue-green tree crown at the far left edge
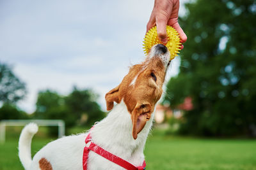
[[3,103],[16,103],[25,94],[25,83],[13,74],[9,66],[0,62],[0,101]]

